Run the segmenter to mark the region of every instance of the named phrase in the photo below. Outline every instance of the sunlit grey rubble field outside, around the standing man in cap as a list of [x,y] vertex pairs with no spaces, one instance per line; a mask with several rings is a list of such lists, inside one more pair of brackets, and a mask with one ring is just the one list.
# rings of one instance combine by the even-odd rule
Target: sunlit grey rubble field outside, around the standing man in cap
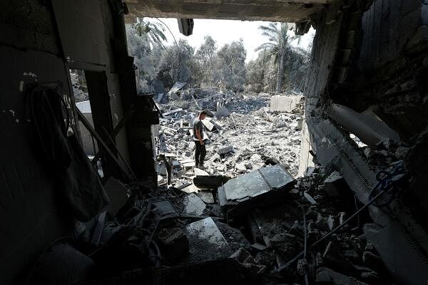
[[[172,182],[185,184],[193,172],[193,119],[208,108],[203,120],[208,135],[205,172],[208,175],[235,175],[257,170],[266,164],[283,163],[297,175],[300,153],[302,113],[272,113],[267,105],[270,95],[230,95],[215,93],[197,100],[175,100],[161,104],[163,118],[157,136],[158,155],[168,157],[172,165]],[[201,104],[200,102],[205,102]],[[211,109],[209,109],[211,108]],[[210,112],[210,110],[213,110]],[[160,181],[167,170],[158,164]]]

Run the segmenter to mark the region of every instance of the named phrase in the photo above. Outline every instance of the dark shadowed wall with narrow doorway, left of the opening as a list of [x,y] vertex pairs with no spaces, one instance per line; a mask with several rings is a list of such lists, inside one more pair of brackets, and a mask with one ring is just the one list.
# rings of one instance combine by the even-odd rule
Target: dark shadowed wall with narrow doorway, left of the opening
[[[63,205],[54,173],[43,162],[29,120],[27,83],[54,82],[73,104],[68,68],[85,70],[87,78],[101,78],[103,82],[93,84],[93,112],[101,114],[98,119],[94,116],[94,125],[102,137],[100,126],[111,132],[129,105],[123,104],[126,97],[121,96],[126,93],[120,78],[125,71],[117,66],[117,58],[127,56],[126,41],[118,42],[117,26],[123,16],[115,5],[120,3],[23,0],[1,4],[0,284],[22,284],[29,264],[73,229],[71,212]],[[128,59],[132,67],[132,58]],[[136,95],[128,90],[129,97]],[[151,134],[150,125],[147,129]],[[116,145],[129,160],[127,137],[123,129]],[[142,160],[153,164],[153,153]],[[121,173],[111,167],[108,174]]]

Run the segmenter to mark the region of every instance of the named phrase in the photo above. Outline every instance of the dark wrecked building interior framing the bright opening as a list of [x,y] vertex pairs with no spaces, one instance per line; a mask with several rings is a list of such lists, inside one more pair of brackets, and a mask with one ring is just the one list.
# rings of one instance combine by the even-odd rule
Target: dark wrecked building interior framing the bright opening
[[[427,0],[0,7],[0,284],[427,284]],[[158,187],[162,112],[138,95],[126,46],[137,16],[186,34],[193,19],[312,25],[305,176],[284,161],[195,176],[209,190],[197,194]],[[70,69],[84,71],[93,122]]]

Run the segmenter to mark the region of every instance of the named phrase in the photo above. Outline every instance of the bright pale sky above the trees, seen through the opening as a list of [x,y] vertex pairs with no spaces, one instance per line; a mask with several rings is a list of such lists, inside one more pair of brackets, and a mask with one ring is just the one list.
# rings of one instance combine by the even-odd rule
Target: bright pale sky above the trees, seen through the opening
[[[156,19],[146,19],[149,21],[157,21]],[[243,38],[244,46],[247,49],[247,59],[257,58],[257,53],[254,49],[260,46],[260,44],[267,41],[267,37],[262,36],[258,27],[260,25],[266,25],[267,22],[263,21],[231,21],[231,20],[205,20],[195,19],[195,26],[193,27],[193,35],[183,36],[178,31],[177,19],[161,19],[178,41],[179,38],[184,38],[188,41],[190,46],[194,46],[198,49],[203,43],[203,38],[206,35],[210,35],[217,41],[217,46],[220,48],[225,43],[232,41],[239,41]],[[290,31],[290,35],[294,36],[293,31]],[[165,36],[168,37],[168,43],[173,43],[173,37],[169,31],[165,31]],[[311,27],[310,31],[300,38],[300,44],[297,44],[297,40],[293,41],[292,46],[300,46],[301,48],[307,48],[308,44],[312,41],[315,36],[315,30]]]

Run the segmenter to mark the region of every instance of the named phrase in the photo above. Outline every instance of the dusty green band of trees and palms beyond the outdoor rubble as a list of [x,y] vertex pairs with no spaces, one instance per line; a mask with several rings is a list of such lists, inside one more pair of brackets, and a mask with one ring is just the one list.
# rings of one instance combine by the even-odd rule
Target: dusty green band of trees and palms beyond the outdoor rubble
[[205,41],[195,51],[185,40],[165,45],[165,27],[161,24],[138,20],[136,24],[126,25],[128,51],[138,68],[141,92],[153,92],[151,82],[155,79],[167,89],[175,81],[183,81],[193,88],[270,92],[277,89],[281,62],[284,84],[281,83],[280,89],[299,90],[307,68],[307,54],[290,47],[287,24],[270,23],[260,26],[260,30],[269,41],[258,48],[260,53],[256,60],[245,64],[242,39],[218,48],[211,36],[205,36]]

